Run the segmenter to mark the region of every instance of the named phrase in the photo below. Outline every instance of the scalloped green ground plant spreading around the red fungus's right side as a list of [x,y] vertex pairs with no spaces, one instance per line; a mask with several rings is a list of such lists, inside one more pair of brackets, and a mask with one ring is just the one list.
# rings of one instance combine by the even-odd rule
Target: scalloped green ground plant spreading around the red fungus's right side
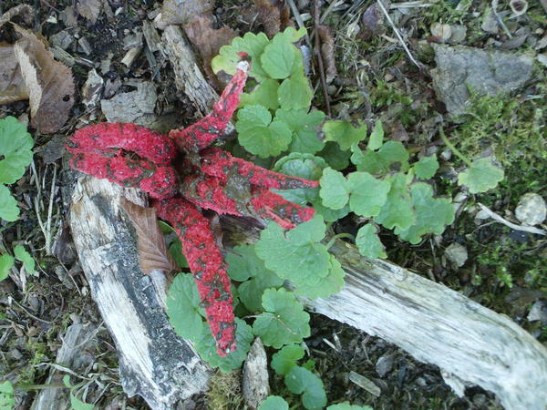
[[[274,371],[290,392],[301,395],[305,408],[313,409],[326,405],[326,395],[317,375],[297,364],[304,356],[301,343],[310,335],[309,315],[297,297],[328,297],[344,284],[345,272],[328,252],[332,242],[324,242],[330,224],[355,213],[365,222],[355,238],[359,251],[369,258],[387,257],[377,235],[380,227],[394,230],[403,241],[418,243],[427,234],[442,233],[454,220],[455,210],[449,199],[435,198],[427,182],[439,169],[435,156],[412,161],[401,142],[384,140],[380,121],[369,134],[366,124],[325,121],[324,113],[310,110],[312,94],[304,62],[294,46],[302,36],[304,31],[294,28],[271,41],[262,34],[246,34],[235,38],[232,46],[222,47],[212,67],[216,72],[234,73],[240,53],[250,57],[249,75],[255,82],[250,82],[236,114],[240,146],[232,152],[260,163],[281,156],[274,162],[274,171],[318,181],[315,187],[275,190],[300,206],[312,204],[316,215],[290,231],[271,221],[256,244],[236,246],[227,256],[240,317],[237,351],[225,357],[214,351],[211,334],[203,331],[200,298],[189,274],[180,273],[173,282],[168,313],[175,331],[190,339],[201,357],[222,372],[239,368],[253,338],[260,337],[265,346],[278,350],[272,359]],[[325,138],[320,138],[321,130]],[[346,169],[350,161],[351,168]],[[480,186],[472,185],[477,184],[475,168],[467,171],[470,176],[460,175],[471,191],[487,190],[497,183],[498,175]],[[273,396],[261,408],[284,405],[284,399]]]

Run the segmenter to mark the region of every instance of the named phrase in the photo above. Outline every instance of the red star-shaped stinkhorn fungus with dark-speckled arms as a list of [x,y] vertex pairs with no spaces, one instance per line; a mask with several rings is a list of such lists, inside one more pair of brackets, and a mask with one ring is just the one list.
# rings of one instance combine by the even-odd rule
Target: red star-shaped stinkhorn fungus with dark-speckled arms
[[[291,229],[312,219],[314,210],[269,189],[317,186],[316,181],[279,174],[209,148],[237,108],[249,68],[249,63],[240,62],[212,113],[191,127],[171,130],[169,137],[134,124],[102,123],[77,130],[67,143],[72,168],[140,188],[155,199],[158,216],[169,221],[181,238],[222,356],[236,348],[233,298],[222,252],[201,209],[267,218]],[[183,175],[177,171],[181,165],[173,164],[180,153],[185,155],[177,157]]]

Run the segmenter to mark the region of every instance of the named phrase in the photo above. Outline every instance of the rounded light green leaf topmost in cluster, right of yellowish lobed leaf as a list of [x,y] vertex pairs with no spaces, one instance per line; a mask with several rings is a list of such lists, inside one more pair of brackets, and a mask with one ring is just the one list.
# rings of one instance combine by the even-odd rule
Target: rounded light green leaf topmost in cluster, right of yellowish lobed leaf
[[[270,44],[264,47],[260,61],[264,71],[272,78],[290,77],[298,67],[299,51],[283,33],[277,33]],[[302,56],[300,56],[302,58]]]

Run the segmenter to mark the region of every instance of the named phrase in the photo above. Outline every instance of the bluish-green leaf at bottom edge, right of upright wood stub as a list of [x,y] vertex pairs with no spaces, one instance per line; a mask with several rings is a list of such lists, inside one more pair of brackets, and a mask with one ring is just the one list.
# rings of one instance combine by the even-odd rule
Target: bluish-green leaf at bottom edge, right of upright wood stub
[[285,375],[284,384],[295,395],[302,395],[307,409],[321,409],[326,405],[325,387],[319,377],[304,367],[295,366]]

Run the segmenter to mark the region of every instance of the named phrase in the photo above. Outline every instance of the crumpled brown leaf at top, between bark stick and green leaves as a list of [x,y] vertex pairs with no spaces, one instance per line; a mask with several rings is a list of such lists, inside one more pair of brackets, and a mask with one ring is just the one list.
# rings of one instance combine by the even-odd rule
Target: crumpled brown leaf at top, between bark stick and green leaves
[[222,46],[232,43],[237,32],[228,26],[212,28],[212,20],[209,16],[198,16],[195,20],[184,26],[184,32],[201,55],[203,67],[207,77],[216,87],[222,87],[217,77],[212,72],[212,57],[219,54]]

